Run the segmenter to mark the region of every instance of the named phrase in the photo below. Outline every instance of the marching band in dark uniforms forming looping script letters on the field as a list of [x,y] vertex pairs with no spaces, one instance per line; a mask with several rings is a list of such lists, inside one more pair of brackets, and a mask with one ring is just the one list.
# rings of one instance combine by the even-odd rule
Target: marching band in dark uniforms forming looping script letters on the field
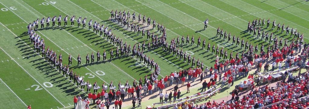
[[[132,20],[130,23],[129,19],[131,18],[132,16]],[[133,12],[133,14],[131,15],[130,12],[128,11],[126,13],[126,11],[118,11],[116,10],[115,12],[112,10],[111,11],[111,17],[110,19],[114,22],[118,22],[118,24],[120,23],[120,25],[124,26],[127,26],[126,28],[129,30],[129,28],[131,28],[130,30],[131,31],[134,31],[135,32],[138,32],[137,34],[141,34],[142,33],[142,37],[145,36],[145,32],[146,32],[146,35],[147,35],[147,41],[148,43],[146,44],[146,42],[144,41],[142,44],[140,43],[135,43],[133,45],[133,47],[131,48],[131,45],[127,44],[127,42],[123,42],[122,41],[122,38],[119,38],[116,37],[115,34],[113,34],[112,32],[112,29],[109,28],[108,26],[104,26],[103,24],[100,24],[99,22],[97,21],[94,21],[92,19],[89,20],[88,22],[88,30],[92,30],[93,32],[95,32],[96,34],[99,34],[99,36],[102,36],[103,35],[103,38],[107,38],[106,40],[110,41],[110,43],[112,43],[113,45],[117,46],[117,49],[115,51],[113,50],[110,50],[110,60],[112,60],[114,58],[114,54],[115,54],[115,58],[118,58],[119,56],[128,56],[128,55],[131,55],[133,58],[135,58],[136,56],[136,59],[142,63],[143,61],[143,64],[146,66],[147,64],[147,67],[150,67],[150,69],[152,70],[153,68],[155,69],[154,70],[154,73],[152,73],[149,78],[146,76],[144,81],[142,80],[142,77],[139,79],[139,84],[137,83],[136,80],[133,80],[133,83],[132,83],[132,86],[128,83],[128,81],[125,83],[125,84],[121,84],[121,82],[119,82],[118,84],[118,91],[120,91],[121,93],[121,99],[125,99],[124,98],[124,93],[128,93],[128,98],[133,98],[133,102],[134,102],[134,106],[135,107],[135,102],[137,99],[141,99],[140,97],[140,90],[142,90],[142,86],[146,86],[147,87],[149,85],[157,85],[158,81],[162,81],[162,79],[159,79],[158,80],[158,75],[159,75],[159,71],[160,71],[160,68],[159,68],[159,65],[158,63],[155,63],[154,59],[151,59],[149,56],[147,57],[146,54],[144,54],[144,52],[146,51],[150,51],[152,49],[157,49],[159,47],[162,47],[162,49],[164,51],[168,51],[168,53],[172,54],[173,56],[175,56],[176,54],[176,57],[180,60],[183,59],[184,62],[187,62],[187,64],[191,64],[191,67],[197,67],[198,69],[201,69],[201,71],[204,71],[204,63],[203,61],[200,61],[200,59],[195,59],[195,57],[191,57],[190,54],[187,55],[187,53],[184,52],[184,50],[182,48],[179,48],[178,46],[179,45],[183,45],[184,44],[184,40],[186,39],[186,45],[189,44],[190,42],[190,37],[189,35],[187,34],[186,38],[184,37],[184,35],[180,38],[179,36],[177,36],[177,38],[173,38],[171,41],[170,41],[170,44],[168,44],[168,41],[166,41],[167,39],[167,34],[166,34],[166,28],[165,26],[163,26],[163,24],[161,23],[158,23],[156,24],[155,22],[155,19],[153,19],[152,21],[152,29],[155,29],[155,27],[157,27],[157,32],[160,31],[159,34],[155,35],[153,33],[150,33],[150,30],[145,30],[144,28],[140,27],[140,25],[137,25],[137,24],[134,24],[135,22],[135,12]],[[96,94],[98,92],[99,89],[102,88],[102,93],[104,94],[107,94],[106,91],[108,91],[108,88],[110,90],[110,93],[114,93],[115,91],[117,91],[116,89],[116,86],[113,85],[113,82],[111,82],[109,84],[109,86],[106,85],[106,83],[103,83],[101,87],[99,87],[99,85],[97,84],[97,82],[93,83],[91,85],[91,83],[87,80],[87,82],[84,81],[83,77],[80,76],[79,74],[77,74],[76,72],[73,71],[73,69],[70,69],[69,67],[72,65],[72,57],[71,55],[69,54],[69,57],[68,57],[68,64],[62,64],[62,55],[61,53],[59,53],[59,55],[57,56],[57,53],[52,49],[50,48],[49,46],[47,47],[47,49],[45,49],[45,43],[44,43],[44,38],[41,38],[39,34],[36,34],[36,30],[38,30],[38,25],[40,24],[41,25],[41,28],[44,28],[44,24],[46,23],[46,27],[49,27],[49,22],[52,22],[52,27],[55,26],[55,22],[58,22],[58,26],[61,27],[61,22],[64,22],[64,26],[67,26],[67,22],[68,22],[68,18],[69,16],[66,15],[63,20],[61,20],[62,18],[62,15],[59,15],[59,16],[53,16],[53,17],[48,17],[48,18],[37,18],[36,20],[34,20],[32,23],[29,23],[28,25],[28,34],[29,34],[29,39],[31,40],[31,43],[33,43],[33,47],[34,47],[34,50],[37,54],[40,54],[42,55],[43,59],[45,59],[48,63],[50,63],[54,68],[56,68],[59,72],[62,72],[62,75],[65,76],[67,79],[69,79],[70,81],[73,81],[74,84],[77,84],[78,87],[81,87],[81,90],[84,90],[84,88],[86,87],[87,88],[87,93],[91,91],[91,89],[93,89],[93,93]],[[78,17],[78,19],[76,19],[77,21],[77,26],[80,27],[81,24],[83,25],[82,28],[86,28],[86,22],[87,22],[87,17],[85,18],[82,18],[82,17]],[[151,18],[148,17],[146,19],[146,15],[142,15],[139,14],[138,15],[138,22],[142,22],[142,24],[146,23],[147,21],[147,26],[150,26],[150,22],[151,22]],[[40,22],[40,23],[39,23]],[[74,22],[75,22],[75,15],[73,15],[72,17],[70,17],[70,22],[71,22],[71,26],[74,26]],[[93,23],[92,23],[93,22]],[[261,23],[262,22],[262,23]],[[267,27],[269,27],[269,23],[270,23],[270,19],[267,20]],[[205,26],[204,26],[204,29],[207,28],[207,25],[208,25],[208,18],[205,20],[204,22]],[[263,26],[265,25],[265,19],[261,20],[253,20],[252,23],[249,21],[248,22],[248,29],[247,29],[247,32],[249,32],[249,34],[251,34],[253,32],[253,35],[255,36],[256,35],[256,31],[258,32],[258,35],[256,36],[256,38],[259,38],[260,35],[261,35],[261,32],[262,32],[262,37],[261,37],[261,40],[263,38],[265,38],[265,42],[269,40],[269,43],[271,44],[271,42],[273,42],[273,46],[269,46],[267,47],[267,52],[264,51],[264,45],[261,44],[260,46],[260,52],[261,54],[264,54],[264,55],[271,55],[272,54],[272,50],[277,50],[279,47],[282,46],[282,38],[280,39],[280,41],[278,42],[278,38],[277,36],[275,35],[275,38],[273,38],[273,33],[270,33],[269,32],[266,32],[265,34],[265,31],[264,29],[261,29]],[[275,24],[275,20],[273,21],[273,26],[272,26],[272,29],[273,30],[275,28],[276,24]],[[284,32],[284,24],[282,24],[282,26],[280,26],[280,23],[277,24],[277,31],[279,31],[281,29],[281,33]],[[304,35],[303,34],[300,34],[300,32],[294,28],[292,28],[290,30],[289,26],[287,26],[285,28],[286,30],[286,35],[288,35],[290,32],[290,38],[292,37],[292,35],[294,34],[294,38],[292,39],[291,43],[288,45],[287,44],[287,39],[285,40],[285,43],[283,45],[283,47],[286,48],[286,50],[288,49],[293,49],[295,48],[296,46],[298,46],[299,44],[303,44],[303,37]],[[276,32],[277,32],[276,31]],[[280,33],[280,34],[281,34]],[[159,35],[161,35],[161,37],[158,37]],[[223,37],[223,39],[225,40],[226,38],[228,38],[228,42],[232,39],[232,44],[235,43],[236,41],[236,36],[234,34],[234,36],[231,38],[231,32],[229,32],[227,34],[227,32],[223,32],[223,29],[221,28],[220,30],[220,27],[218,27],[217,29],[217,35],[220,38]],[[279,35],[279,34],[277,34]],[[296,41],[295,41],[295,38],[297,37]],[[151,38],[151,41],[149,40]],[[180,43],[180,40],[181,40],[181,43]],[[194,35],[192,35],[191,37],[191,45],[193,45],[195,42],[194,40]],[[250,41],[249,41],[250,42]],[[237,37],[237,41],[236,41],[236,45],[238,46],[239,44],[241,44],[241,48],[243,48],[243,46],[245,46],[245,50],[249,49],[247,53],[245,53],[245,50],[243,50],[243,53],[241,54],[241,59],[243,62],[247,62],[248,63],[248,60],[249,60],[249,57],[250,56],[253,56],[253,55],[256,55],[256,52],[258,51],[258,44],[254,47],[251,42],[250,44],[248,40],[246,42],[244,42],[244,39],[242,39],[241,43],[240,43],[240,38],[239,36]],[[267,43],[267,42],[266,42]],[[204,49],[205,48],[205,45],[206,44],[206,41],[205,39],[203,39],[202,41],[202,48]],[[201,45],[201,37],[198,37],[197,38],[197,46],[200,46]],[[147,48],[147,50],[146,50]],[[217,48],[215,45],[212,46],[212,54],[214,54],[214,51],[216,51],[215,55],[216,55],[216,64],[214,65],[215,67],[216,66],[220,66],[222,63],[219,63],[219,59],[223,59],[223,60],[227,60],[227,50],[224,50],[223,47],[220,49],[219,46],[217,46]],[[220,49],[220,50],[219,50]],[[255,49],[255,51],[253,50]],[[206,51],[210,51],[210,42],[208,42],[207,44],[207,49]],[[115,53],[114,53],[115,52]],[[219,54],[220,53],[220,54]],[[103,52],[103,61],[106,61],[106,51],[104,50]],[[219,55],[219,56],[218,56]],[[224,56],[224,57],[223,57]],[[100,61],[100,58],[101,58],[101,54],[99,52],[99,50],[97,51],[96,53],[96,57],[97,57],[97,62]],[[222,58],[223,57],[223,58]],[[239,60],[239,53],[236,53],[235,55],[235,58],[233,58],[233,52],[230,53],[230,59],[235,59],[235,60]],[[91,59],[91,61],[90,61]],[[248,60],[246,60],[248,59]],[[81,65],[81,56],[78,54],[78,57],[77,57],[77,65]],[[86,64],[89,64],[89,63],[94,63],[94,60],[95,60],[95,55],[94,53],[92,52],[91,55],[89,56],[89,54],[87,54],[86,56]],[[224,65],[226,66],[226,63],[228,63],[228,61],[224,63]],[[250,61],[250,60],[249,60]],[[219,70],[220,71],[220,70]],[[207,75],[207,74],[206,74]],[[144,83],[143,83],[144,82]],[[158,87],[158,89],[160,89]],[[134,91],[136,91],[136,96],[133,94]],[[133,93],[132,93],[133,92]],[[131,94],[132,95],[131,95]],[[115,92],[116,94],[116,92]],[[114,94],[114,95],[115,95]],[[104,96],[104,95],[103,95]],[[106,98],[106,97],[104,97]],[[119,99],[119,97],[117,97]],[[103,97],[102,97],[102,100],[103,100]],[[112,99],[105,99],[106,102],[111,102]],[[139,102],[139,105],[140,105],[140,102]]]

